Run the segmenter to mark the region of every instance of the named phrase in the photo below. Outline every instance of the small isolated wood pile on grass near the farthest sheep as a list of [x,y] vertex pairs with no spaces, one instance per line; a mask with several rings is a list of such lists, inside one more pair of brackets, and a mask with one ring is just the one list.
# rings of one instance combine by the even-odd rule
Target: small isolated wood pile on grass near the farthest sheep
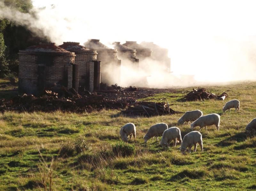
[[199,88],[194,89],[192,91],[189,91],[188,94],[186,94],[181,100],[186,101],[197,101],[197,100],[205,100],[205,99],[218,99],[218,100],[224,100],[226,97],[228,97],[228,94],[223,92],[221,95],[216,95],[212,92],[209,92],[206,88]]

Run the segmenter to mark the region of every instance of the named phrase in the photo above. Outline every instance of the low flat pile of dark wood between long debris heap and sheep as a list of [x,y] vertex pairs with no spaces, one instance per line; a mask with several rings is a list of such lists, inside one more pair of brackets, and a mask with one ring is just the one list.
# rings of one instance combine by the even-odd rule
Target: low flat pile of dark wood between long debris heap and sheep
[[138,115],[138,116],[154,116],[154,115],[167,115],[182,113],[174,111],[170,108],[170,105],[165,102],[135,102],[130,104],[125,111],[122,111],[126,115]]

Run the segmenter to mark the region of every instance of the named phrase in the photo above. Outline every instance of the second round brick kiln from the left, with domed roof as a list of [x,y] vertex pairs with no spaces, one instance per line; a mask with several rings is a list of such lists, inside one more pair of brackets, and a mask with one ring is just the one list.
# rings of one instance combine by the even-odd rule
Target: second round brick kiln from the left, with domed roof
[[79,42],[63,42],[60,48],[76,54],[75,63],[79,66],[79,86],[92,92],[100,89],[100,61],[97,51],[79,45]]

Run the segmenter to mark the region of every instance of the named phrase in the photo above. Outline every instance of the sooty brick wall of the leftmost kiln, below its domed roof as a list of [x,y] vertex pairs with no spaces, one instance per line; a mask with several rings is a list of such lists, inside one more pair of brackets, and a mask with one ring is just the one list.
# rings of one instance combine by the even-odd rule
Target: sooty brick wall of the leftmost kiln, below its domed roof
[[[44,60],[46,61],[44,62]],[[38,94],[42,89],[53,86],[54,83],[71,88],[72,64],[74,62],[74,53],[30,54],[25,51],[20,51],[19,92]]]

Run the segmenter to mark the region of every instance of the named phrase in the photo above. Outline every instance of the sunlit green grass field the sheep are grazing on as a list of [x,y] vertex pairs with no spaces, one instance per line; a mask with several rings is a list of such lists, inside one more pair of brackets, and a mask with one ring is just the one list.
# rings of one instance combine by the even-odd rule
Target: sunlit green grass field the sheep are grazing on
[[[143,99],[167,100],[176,111],[200,109],[204,114],[221,115],[220,131],[215,126],[200,131],[204,152],[197,147],[187,155],[181,155],[179,144],[162,148],[155,139],[147,144],[143,140],[151,125],[177,126],[182,114],[135,118],[118,110],[0,114],[0,190],[50,186],[52,190],[256,189],[256,138],[244,133],[256,117],[256,82],[207,88],[216,94],[225,91],[229,97],[224,102],[177,101],[190,87]],[[231,99],[240,100],[240,112],[233,109],[222,114]],[[128,122],[136,125],[137,139],[121,144],[119,130]],[[177,127],[182,137],[190,132],[188,123]],[[116,151],[118,147],[123,153]]]

